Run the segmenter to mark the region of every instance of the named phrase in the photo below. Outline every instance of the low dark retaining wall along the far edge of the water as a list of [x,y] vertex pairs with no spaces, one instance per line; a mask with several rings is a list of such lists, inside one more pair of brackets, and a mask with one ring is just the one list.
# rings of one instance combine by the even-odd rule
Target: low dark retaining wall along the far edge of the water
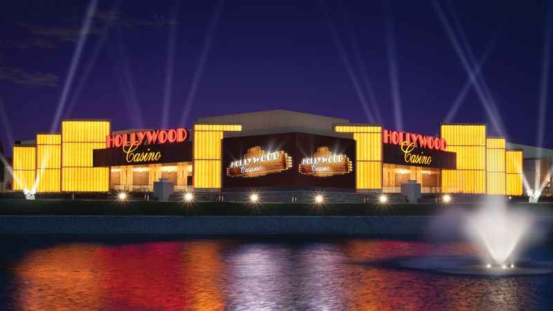
[[[436,216],[0,216],[0,234],[181,236],[430,235]],[[543,231],[553,217],[538,218]],[[451,228],[451,234],[459,232]]]

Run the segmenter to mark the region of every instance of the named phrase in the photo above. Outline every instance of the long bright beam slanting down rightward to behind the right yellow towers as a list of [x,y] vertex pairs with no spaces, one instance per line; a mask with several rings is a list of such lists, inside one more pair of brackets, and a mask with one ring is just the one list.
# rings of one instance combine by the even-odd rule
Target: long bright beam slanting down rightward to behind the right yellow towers
[[[436,13],[438,13],[438,17],[442,23],[442,27],[444,28],[447,37],[449,41],[451,42],[451,45],[453,46],[453,50],[455,50],[457,56],[459,57],[463,69],[465,69],[465,72],[467,75],[471,75],[471,66],[469,64],[469,61],[467,60],[467,57],[465,56],[465,52],[463,52],[460,43],[457,39],[457,36],[453,32],[453,28],[451,28],[451,25],[449,21],[447,20],[447,17],[444,15],[444,12],[442,8],[440,7],[440,4],[436,1],[432,1],[434,9]],[[489,120],[491,121],[491,124],[494,126],[494,129],[497,131],[499,135],[504,135],[505,131],[503,131],[502,126],[500,125],[500,122],[498,122],[498,118],[494,114],[493,109],[491,109],[491,106],[488,103],[487,96],[485,95],[485,91],[482,90],[482,87],[478,83],[478,79],[475,79],[474,81],[474,88],[476,90],[476,94],[478,95],[478,98],[480,99],[480,102],[482,103],[482,106],[484,107],[485,112],[487,113],[487,116],[489,117]]]

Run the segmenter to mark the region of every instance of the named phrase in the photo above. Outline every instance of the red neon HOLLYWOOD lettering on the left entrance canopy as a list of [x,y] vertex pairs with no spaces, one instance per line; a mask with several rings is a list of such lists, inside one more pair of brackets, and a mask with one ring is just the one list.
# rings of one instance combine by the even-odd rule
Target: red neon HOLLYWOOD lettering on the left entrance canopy
[[153,130],[135,133],[122,133],[106,136],[106,148],[122,147],[131,145],[166,144],[173,142],[184,142],[188,138],[188,131],[184,128],[169,130]]

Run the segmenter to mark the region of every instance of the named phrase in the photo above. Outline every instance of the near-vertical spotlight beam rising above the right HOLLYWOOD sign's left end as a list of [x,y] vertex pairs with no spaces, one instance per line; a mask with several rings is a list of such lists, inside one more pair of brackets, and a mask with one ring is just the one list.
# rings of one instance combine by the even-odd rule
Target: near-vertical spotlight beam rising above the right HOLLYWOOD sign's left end
[[394,26],[392,21],[393,12],[390,0],[384,0],[384,13],[386,21],[386,56],[388,59],[388,70],[390,72],[390,88],[392,93],[395,128],[398,131],[402,131],[402,100],[400,94],[400,79],[397,73],[397,53],[395,48]]

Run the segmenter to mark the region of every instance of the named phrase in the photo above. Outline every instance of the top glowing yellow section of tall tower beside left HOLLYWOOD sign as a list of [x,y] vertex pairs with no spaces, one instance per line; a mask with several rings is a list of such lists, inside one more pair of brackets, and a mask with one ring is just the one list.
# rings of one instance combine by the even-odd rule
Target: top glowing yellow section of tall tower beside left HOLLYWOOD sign
[[109,121],[62,121],[62,142],[105,142],[110,134]]

